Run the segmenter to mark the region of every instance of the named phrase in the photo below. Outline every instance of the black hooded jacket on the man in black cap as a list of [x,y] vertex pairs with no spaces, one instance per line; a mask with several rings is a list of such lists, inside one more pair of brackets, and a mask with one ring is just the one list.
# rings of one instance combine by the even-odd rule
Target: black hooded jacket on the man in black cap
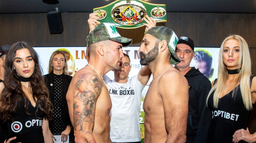
[[[207,142],[208,127],[212,112],[208,109],[208,115],[202,115],[206,109],[206,98],[211,89],[211,82],[198,69],[192,67],[185,75],[188,80],[188,120],[186,143]],[[209,119],[208,119],[208,118]],[[206,124],[209,124],[208,127]]]

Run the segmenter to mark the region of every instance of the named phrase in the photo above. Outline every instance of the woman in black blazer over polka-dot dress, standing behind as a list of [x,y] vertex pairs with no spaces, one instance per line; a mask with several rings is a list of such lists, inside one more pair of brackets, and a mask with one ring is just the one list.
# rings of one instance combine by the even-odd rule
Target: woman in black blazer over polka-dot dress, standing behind
[[[74,129],[68,114],[66,94],[72,77],[66,75],[68,65],[66,56],[62,51],[55,51],[49,61],[48,73],[44,75],[45,83],[50,92],[50,100],[53,104],[53,119],[49,121],[52,134],[61,134],[61,141],[75,142]],[[52,138],[55,137],[52,135]],[[55,139],[56,140],[56,139]]]

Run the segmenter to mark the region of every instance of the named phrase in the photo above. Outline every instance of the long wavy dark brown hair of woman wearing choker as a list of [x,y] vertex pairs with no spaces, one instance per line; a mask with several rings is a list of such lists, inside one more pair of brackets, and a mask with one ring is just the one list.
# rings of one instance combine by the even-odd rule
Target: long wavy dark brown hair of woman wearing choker
[[[4,72],[4,89],[0,98],[0,119],[2,121],[13,122],[15,120],[15,113],[21,100],[25,100],[25,110],[28,115],[28,103],[25,93],[22,90],[22,85],[17,77],[16,70],[14,70],[13,62],[16,51],[27,48],[35,62],[34,73],[30,78],[30,90],[33,94],[33,99],[36,102],[36,113],[38,108],[45,113],[44,119],[52,119],[52,103],[49,100],[48,89],[44,84],[41,67],[39,65],[38,55],[36,51],[27,42],[21,41],[14,43],[9,49],[5,58],[5,72]],[[36,114],[35,113],[35,114]]]

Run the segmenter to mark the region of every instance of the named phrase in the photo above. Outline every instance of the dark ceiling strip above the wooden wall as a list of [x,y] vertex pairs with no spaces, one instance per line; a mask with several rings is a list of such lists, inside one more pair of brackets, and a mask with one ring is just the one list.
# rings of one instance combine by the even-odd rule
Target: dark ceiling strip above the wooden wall
[[[59,0],[59,4],[45,4],[42,0],[0,0],[0,14],[48,13],[59,8],[61,12],[92,12],[115,0]],[[167,12],[256,13],[255,0],[147,0],[166,4]]]

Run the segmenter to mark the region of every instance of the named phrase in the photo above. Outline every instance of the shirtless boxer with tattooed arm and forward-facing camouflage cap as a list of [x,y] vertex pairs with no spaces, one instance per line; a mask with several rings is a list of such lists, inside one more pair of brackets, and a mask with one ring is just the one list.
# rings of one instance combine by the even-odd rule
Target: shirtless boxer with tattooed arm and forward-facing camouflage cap
[[115,26],[101,23],[88,35],[88,65],[74,75],[67,93],[68,110],[77,143],[112,143],[109,138],[112,107],[104,74],[119,70],[122,47],[132,39],[121,37]]

